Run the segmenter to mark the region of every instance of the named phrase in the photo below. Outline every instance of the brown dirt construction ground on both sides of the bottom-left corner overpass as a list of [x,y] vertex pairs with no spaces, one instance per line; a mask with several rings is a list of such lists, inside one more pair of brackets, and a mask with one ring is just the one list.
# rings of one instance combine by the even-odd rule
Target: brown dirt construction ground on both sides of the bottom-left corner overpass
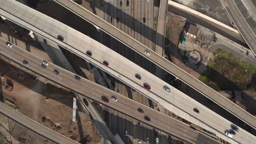
[[[10,62],[16,65],[13,62]],[[53,129],[55,125],[62,127],[57,133],[63,134],[75,141],[88,143],[98,143],[101,136],[90,122],[90,118],[79,107],[78,122],[72,122],[72,106],[74,94],[68,89],[55,85],[43,77],[39,77],[36,81],[36,75],[32,72],[26,73],[24,68],[16,68],[7,62],[0,61],[2,80],[2,89],[5,100],[14,101],[19,112],[27,117],[32,118],[48,128]],[[19,75],[25,77],[20,80]],[[5,86],[8,83],[13,85],[13,90],[8,91]],[[40,116],[49,119],[51,123],[43,122]],[[11,135],[16,139],[22,137],[30,143],[43,143],[45,139],[28,130],[16,127],[16,124],[10,123]]]

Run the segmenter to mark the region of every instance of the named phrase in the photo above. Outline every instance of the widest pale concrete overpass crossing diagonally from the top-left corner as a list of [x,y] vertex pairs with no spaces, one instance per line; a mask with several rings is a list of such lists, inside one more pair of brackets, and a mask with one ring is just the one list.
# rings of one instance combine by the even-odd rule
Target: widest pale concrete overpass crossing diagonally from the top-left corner
[[[11,4],[12,2],[13,4]],[[65,49],[68,49],[76,55],[90,61],[91,63],[94,63],[97,65],[97,67],[108,71],[109,74],[113,75],[120,81],[125,82],[127,85],[131,86],[147,97],[157,101],[166,107],[167,110],[176,113],[176,115],[211,131],[226,141],[235,143],[235,141],[229,139],[229,137],[224,134],[224,131],[231,125],[229,121],[218,116],[207,107],[181,93],[171,85],[168,85],[168,83],[158,79],[148,71],[138,67],[138,65],[128,61],[126,58],[118,55],[118,53],[115,53],[100,43],[97,43],[95,40],[92,40],[86,35],[67,27],[66,25],[63,25],[63,23],[50,19],[50,17],[40,14],[38,11],[30,9],[19,2],[9,1],[9,4],[10,5],[8,6],[8,4],[5,2],[0,5],[1,9],[7,8],[5,10],[9,10],[12,14],[10,15],[9,13],[1,10],[0,14],[4,15],[4,17],[8,17],[9,19],[20,23],[20,25],[43,35],[45,38],[54,41]],[[15,5],[15,9],[10,8],[11,5]],[[17,17],[19,17],[19,19]],[[34,27],[28,23],[32,23]],[[63,41],[57,40],[56,37],[59,34],[63,36]],[[56,36],[53,37],[52,35]],[[85,54],[85,48],[92,52],[91,57]],[[109,62],[108,67],[102,64],[103,61]],[[120,65],[119,62],[122,62],[122,64]],[[129,65],[129,67],[126,67],[126,65]],[[136,79],[135,74],[140,74],[143,79]],[[148,91],[147,89],[143,88],[143,82],[154,83],[154,85],[150,91]],[[166,91],[164,91],[162,88],[163,86],[170,87],[171,93],[168,94]],[[195,107],[200,110],[200,114],[195,115],[193,110]],[[251,134],[247,134],[249,137],[240,137],[236,135],[234,139],[239,139],[239,141],[253,139],[253,137],[250,137]]]

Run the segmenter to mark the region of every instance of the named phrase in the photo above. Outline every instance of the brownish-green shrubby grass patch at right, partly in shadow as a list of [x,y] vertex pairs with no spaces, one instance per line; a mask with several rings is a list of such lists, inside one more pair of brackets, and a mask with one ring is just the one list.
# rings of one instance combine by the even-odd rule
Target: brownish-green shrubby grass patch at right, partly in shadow
[[220,49],[213,55],[214,59],[210,59],[200,81],[216,91],[245,90],[255,86],[256,68],[253,65]]

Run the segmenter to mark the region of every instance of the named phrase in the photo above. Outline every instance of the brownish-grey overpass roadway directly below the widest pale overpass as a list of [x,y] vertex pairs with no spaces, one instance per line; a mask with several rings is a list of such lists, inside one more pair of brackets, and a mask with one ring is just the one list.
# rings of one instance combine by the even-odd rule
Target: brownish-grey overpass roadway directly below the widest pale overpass
[[[113,107],[113,109],[126,113],[126,115],[130,115],[141,122],[147,123],[152,126],[156,125],[155,126],[156,128],[163,129],[167,133],[171,132],[170,134],[173,134],[177,137],[181,137],[181,138],[183,137],[185,141],[193,142],[196,140],[196,137],[199,135],[199,132],[191,129],[189,125],[179,122],[176,119],[168,117],[158,111],[150,109],[149,107],[139,104],[136,101],[133,101],[129,98],[123,97],[122,95],[115,93],[113,91],[110,91],[109,89],[104,88],[102,86],[99,86],[96,83],[90,82],[89,80],[86,80],[84,78],[80,78],[80,80],[74,79],[74,74],[72,74],[71,72],[65,69],[57,67],[54,64],[49,63],[49,65],[47,66],[47,69],[43,70],[40,67],[40,64],[43,62],[43,59],[37,56],[34,56],[31,53],[28,53],[25,50],[22,50],[15,45],[13,45],[13,47],[10,49],[10,47],[3,44],[3,42],[5,42],[5,40],[1,39],[0,49],[1,49],[1,54],[3,56],[9,57],[11,60],[15,61],[18,64],[21,64],[22,66],[27,67],[28,69],[34,71],[35,73],[38,73],[42,76],[45,75],[45,77],[48,77],[48,79],[51,79],[56,83],[59,83],[59,85],[63,87],[72,89],[73,91],[80,93],[82,95],[86,95],[86,97],[89,97],[95,101],[98,101],[98,103]],[[30,58],[30,59],[27,59],[29,65],[26,66],[22,64],[22,61],[28,57]],[[58,76],[56,76],[53,73],[54,69],[57,69],[60,72]],[[97,89],[97,91],[95,91],[95,89]],[[109,103],[104,103],[102,101],[102,95],[108,97]],[[112,95],[118,98],[118,103],[115,103],[114,101],[110,100],[110,97]],[[139,113],[134,113],[137,107],[141,107],[145,113],[149,113],[150,114],[149,116],[152,119],[152,121],[148,122],[144,119],[143,115],[140,115]],[[152,113],[154,115],[152,115]],[[159,119],[159,117],[161,117],[161,119]],[[161,123],[164,123],[164,124],[161,124]],[[166,125],[172,125],[172,129],[167,128]],[[186,134],[189,134],[189,135],[186,135]]]

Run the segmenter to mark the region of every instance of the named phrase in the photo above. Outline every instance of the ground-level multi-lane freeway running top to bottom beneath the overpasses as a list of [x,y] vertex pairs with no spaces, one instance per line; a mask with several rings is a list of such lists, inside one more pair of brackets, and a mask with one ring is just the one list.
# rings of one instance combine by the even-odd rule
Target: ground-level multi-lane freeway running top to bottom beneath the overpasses
[[[121,4],[120,4],[121,3]],[[136,7],[136,8],[135,8]],[[121,31],[125,32],[128,35],[133,35],[133,37],[140,39],[143,43],[147,44],[149,47],[153,47],[153,43],[151,40],[144,38],[141,35],[141,31],[146,32],[147,28],[144,28],[146,25],[149,26],[150,22],[153,23],[153,1],[129,1],[129,7],[127,7],[126,0],[119,1],[115,0],[113,3],[106,3],[105,5],[105,17],[104,19],[117,27]],[[150,13],[150,14],[148,14]],[[139,14],[139,16],[137,16]],[[150,15],[150,17],[148,16]],[[134,17],[133,17],[134,16]],[[147,17],[148,16],[148,17]],[[112,17],[112,18],[111,18]],[[143,17],[146,18],[146,22],[142,23]],[[117,22],[117,18],[119,22]],[[112,21],[111,21],[112,19]],[[136,22],[139,21],[139,22]],[[134,27],[135,23],[141,24],[139,26]],[[151,25],[153,26],[153,24]],[[134,29],[136,28],[136,29]],[[144,30],[145,29],[145,30]],[[153,29],[153,27],[152,27]],[[148,35],[151,34],[153,37],[153,33],[147,32]],[[119,41],[110,37],[108,34],[104,34],[104,43],[110,47],[112,50],[119,52],[121,55],[125,57],[133,57],[133,51],[127,51],[125,49],[125,45],[119,43]],[[141,57],[141,56],[139,56]],[[138,58],[134,56],[131,59],[136,59],[136,63],[147,64],[145,59]],[[143,65],[147,67],[147,65]],[[153,71],[152,67],[148,67],[150,71]],[[121,85],[120,83],[116,83],[115,85],[116,91],[119,90],[119,93],[127,96],[127,88],[125,85]],[[134,97],[139,97],[139,95],[135,95]],[[148,98],[141,97],[139,103],[147,104]],[[129,116],[123,115],[114,110],[107,110],[110,112],[109,115],[109,128],[112,128],[113,133],[117,132],[120,137],[124,140],[125,143],[138,143],[140,140],[142,143],[146,143],[146,138],[150,137],[149,142],[153,143],[153,129],[146,124],[142,123],[142,127],[138,125],[138,122],[135,119],[132,119]],[[118,125],[116,124],[118,122]],[[125,130],[127,130],[127,136],[125,135]]]

